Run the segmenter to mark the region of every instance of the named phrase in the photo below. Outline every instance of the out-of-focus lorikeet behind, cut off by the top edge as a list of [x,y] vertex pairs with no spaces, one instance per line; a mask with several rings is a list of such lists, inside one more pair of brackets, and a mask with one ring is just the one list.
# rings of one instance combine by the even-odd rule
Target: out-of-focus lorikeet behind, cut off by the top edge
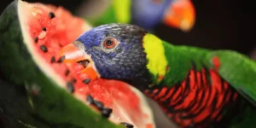
[[190,0],[101,0],[83,4],[78,11],[92,26],[125,23],[151,30],[160,23],[189,31],[195,24]]

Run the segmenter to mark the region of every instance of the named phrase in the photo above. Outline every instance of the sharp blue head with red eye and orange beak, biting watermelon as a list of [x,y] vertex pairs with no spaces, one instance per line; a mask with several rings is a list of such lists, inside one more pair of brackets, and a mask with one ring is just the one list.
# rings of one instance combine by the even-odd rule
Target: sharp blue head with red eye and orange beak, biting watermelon
[[97,26],[61,49],[60,54],[66,62],[84,61],[83,72],[91,79],[117,79],[143,89],[152,79],[142,43],[146,33],[133,25]]

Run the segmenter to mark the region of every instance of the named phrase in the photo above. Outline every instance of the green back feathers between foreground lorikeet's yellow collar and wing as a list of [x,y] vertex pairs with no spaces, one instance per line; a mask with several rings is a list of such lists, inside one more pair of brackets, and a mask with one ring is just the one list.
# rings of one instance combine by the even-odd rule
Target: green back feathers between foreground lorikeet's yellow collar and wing
[[198,70],[202,66],[207,66],[207,61],[204,58],[207,57],[207,54],[211,50],[188,46],[174,46],[165,41],[163,41],[163,45],[170,69],[167,71],[160,85],[171,87],[174,84],[182,82],[191,69],[192,61],[195,62]]

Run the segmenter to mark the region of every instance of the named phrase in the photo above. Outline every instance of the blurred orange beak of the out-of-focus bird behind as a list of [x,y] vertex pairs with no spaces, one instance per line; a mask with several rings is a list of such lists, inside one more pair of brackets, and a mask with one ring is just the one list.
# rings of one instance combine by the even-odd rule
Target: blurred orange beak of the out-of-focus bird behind
[[164,23],[189,32],[195,24],[195,8],[190,0],[175,0],[164,15]]

